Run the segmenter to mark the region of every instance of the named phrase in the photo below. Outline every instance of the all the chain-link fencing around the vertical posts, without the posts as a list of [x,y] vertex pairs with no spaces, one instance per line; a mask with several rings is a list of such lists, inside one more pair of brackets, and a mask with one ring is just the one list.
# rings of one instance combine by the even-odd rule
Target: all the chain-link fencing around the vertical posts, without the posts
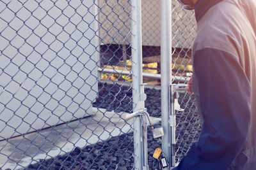
[[[196,22],[172,4],[172,83],[184,83]],[[161,5],[141,5],[143,71],[161,74]],[[0,169],[134,169],[134,122],[124,119],[133,112],[132,10],[129,0],[0,1]],[[161,127],[159,78],[143,80]],[[177,162],[200,132],[195,97],[179,103]],[[150,169],[159,146],[148,131]]]

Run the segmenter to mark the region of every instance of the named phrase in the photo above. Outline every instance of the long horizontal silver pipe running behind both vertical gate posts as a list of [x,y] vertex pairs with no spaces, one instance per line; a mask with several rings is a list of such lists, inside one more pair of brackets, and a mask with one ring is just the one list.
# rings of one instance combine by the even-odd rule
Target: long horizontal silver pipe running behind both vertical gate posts
[[[121,75],[131,75],[131,71],[127,70],[120,70],[120,69],[102,69],[98,68],[98,71],[101,73],[113,73],[113,74],[121,74]],[[154,74],[154,73],[142,73],[143,78],[156,78],[161,79],[161,74]],[[171,79],[178,80],[180,83],[184,83],[189,81],[190,77],[184,77],[184,76],[172,76]]]

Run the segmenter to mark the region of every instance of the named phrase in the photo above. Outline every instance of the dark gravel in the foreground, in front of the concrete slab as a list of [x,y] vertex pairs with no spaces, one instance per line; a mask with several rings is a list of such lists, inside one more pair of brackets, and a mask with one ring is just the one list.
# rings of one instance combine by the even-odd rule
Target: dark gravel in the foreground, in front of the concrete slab
[[[84,148],[75,148],[70,153],[53,159],[40,160],[28,169],[134,169],[133,134],[123,134]],[[154,149],[160,147],[148,129],[148,165],[153,169]]]

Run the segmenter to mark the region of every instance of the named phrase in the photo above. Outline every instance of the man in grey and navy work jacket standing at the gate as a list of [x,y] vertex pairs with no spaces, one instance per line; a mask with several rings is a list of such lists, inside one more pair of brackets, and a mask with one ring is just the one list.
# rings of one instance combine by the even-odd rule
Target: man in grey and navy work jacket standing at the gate
[[256,1],[180,3],[198,23],[187,90],[202,131],[174,169],[256,169]]

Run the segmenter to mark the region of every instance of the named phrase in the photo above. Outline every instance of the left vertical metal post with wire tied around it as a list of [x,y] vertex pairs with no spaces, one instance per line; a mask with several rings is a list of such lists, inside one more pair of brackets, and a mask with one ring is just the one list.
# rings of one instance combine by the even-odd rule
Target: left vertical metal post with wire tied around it
[[[144,101],[141,101],[142,79],[142,38],[141,38],[141,0],[131,0],[131,34],[132,34],[132,103],[133,111],[137,110]],[[134,169],[143,169],[145,155],[143,150],[143,130],[140,117],[134,120]]]

